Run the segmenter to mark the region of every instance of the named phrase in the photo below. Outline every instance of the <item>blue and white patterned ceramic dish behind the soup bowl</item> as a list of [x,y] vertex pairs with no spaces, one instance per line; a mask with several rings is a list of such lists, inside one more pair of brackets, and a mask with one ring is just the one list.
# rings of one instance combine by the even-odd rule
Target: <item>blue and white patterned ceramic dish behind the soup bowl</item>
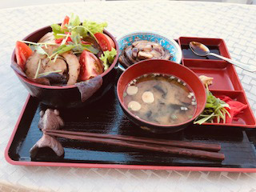
[[169,50],[171,58],[170,61],[181,63],[182,61],[182,49],[178,46],[178,43],[174,39],[166,38],[162,34],[154,32],[134,32],[130,34],[122,35],[118,38],[119,53],[122,53],[127,46],[130,46],[135,41],[147,40],[150,42],[157,42],[166,50]]

